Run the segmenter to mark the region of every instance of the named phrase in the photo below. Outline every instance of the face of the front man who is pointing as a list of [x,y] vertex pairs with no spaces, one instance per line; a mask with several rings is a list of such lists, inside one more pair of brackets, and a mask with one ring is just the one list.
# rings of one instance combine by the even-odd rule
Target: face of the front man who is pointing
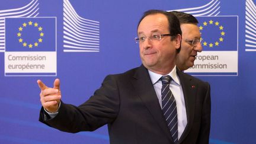
[[164,14],[148,15],[140,22],[138,37],[146,37],[139,43],[140,58],[149,70],[164,74],[169,73],[175,65],[176,50],[180,47],[180,37],[171,41],[170,36],[161,40],[150,40],[152,34],[169,34],[168,20]]

